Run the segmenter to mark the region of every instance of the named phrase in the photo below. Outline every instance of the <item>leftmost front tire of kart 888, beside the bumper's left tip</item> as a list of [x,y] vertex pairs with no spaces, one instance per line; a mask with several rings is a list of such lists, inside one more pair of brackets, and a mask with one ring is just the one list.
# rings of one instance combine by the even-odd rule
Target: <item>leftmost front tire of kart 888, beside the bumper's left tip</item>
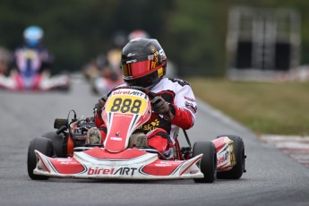
[[28,159],[27,159],[27,167],[28,167],[28,175],[31,179],[34,180],[47,180],[48,176],[39,176],[33,174],[33,170],[37,167],[37,156],[34,150],[39,150],[44,155],[48,157],[52,157],[54,154],[53,144],[52,142],[44,137],[34,138],[30,141],[28,148]]

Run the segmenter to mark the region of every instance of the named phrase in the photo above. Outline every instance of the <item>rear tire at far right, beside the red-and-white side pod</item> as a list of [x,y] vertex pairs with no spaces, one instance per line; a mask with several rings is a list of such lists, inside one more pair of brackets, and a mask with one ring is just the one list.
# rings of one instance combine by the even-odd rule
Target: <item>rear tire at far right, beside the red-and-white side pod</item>
[[[225,135],[234,142],[236,165],[229,171],[218,172],[218,179],[239,179],[245,171],[245,144],[239,136]],[[219,138],[219,137],[218,137]]]

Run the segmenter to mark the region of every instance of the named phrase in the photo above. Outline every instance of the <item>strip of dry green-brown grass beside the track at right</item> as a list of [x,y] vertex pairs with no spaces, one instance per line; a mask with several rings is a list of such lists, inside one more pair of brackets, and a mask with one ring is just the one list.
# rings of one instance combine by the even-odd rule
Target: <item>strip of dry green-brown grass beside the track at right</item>
[[309,134],[309,82],[188,79],[195,96],[262,134]]

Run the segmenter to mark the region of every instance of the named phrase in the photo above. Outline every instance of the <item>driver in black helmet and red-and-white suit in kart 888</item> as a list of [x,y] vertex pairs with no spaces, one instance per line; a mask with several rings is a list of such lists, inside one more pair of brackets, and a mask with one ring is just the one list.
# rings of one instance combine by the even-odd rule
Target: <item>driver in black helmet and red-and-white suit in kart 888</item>
[[[121,67],[124,84],[120,86],[140,86],[156,93],[151,99],[153,113],[150,120],[139,128],[133,145],[149,146],[161,153],[169,153],[173,147],[176,128],[189,129],[194,124],[197,110],[193,90],[188,82],[165,78],[167,56],[157,39],[132,39],[122,50]],[[107,127],[103,122],[101,111],[107,96],[99,99],[95,105],[97,127],[90,128],[88,142],[97,136],[98,142],[104,142]],[[98,137],[98,135],[100,135]],[[98,143],[97,142],[97,143]]]

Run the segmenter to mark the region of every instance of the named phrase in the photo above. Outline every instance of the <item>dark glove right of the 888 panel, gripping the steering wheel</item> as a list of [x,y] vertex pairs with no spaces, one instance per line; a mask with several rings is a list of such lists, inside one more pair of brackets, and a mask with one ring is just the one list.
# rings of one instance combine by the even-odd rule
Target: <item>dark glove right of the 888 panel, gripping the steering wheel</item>
[[175,116],[175,109],[172,105],[161,97],[155,97],[150,101],[152,110],[158,115],[163,115],[167,120],[173,119]]

